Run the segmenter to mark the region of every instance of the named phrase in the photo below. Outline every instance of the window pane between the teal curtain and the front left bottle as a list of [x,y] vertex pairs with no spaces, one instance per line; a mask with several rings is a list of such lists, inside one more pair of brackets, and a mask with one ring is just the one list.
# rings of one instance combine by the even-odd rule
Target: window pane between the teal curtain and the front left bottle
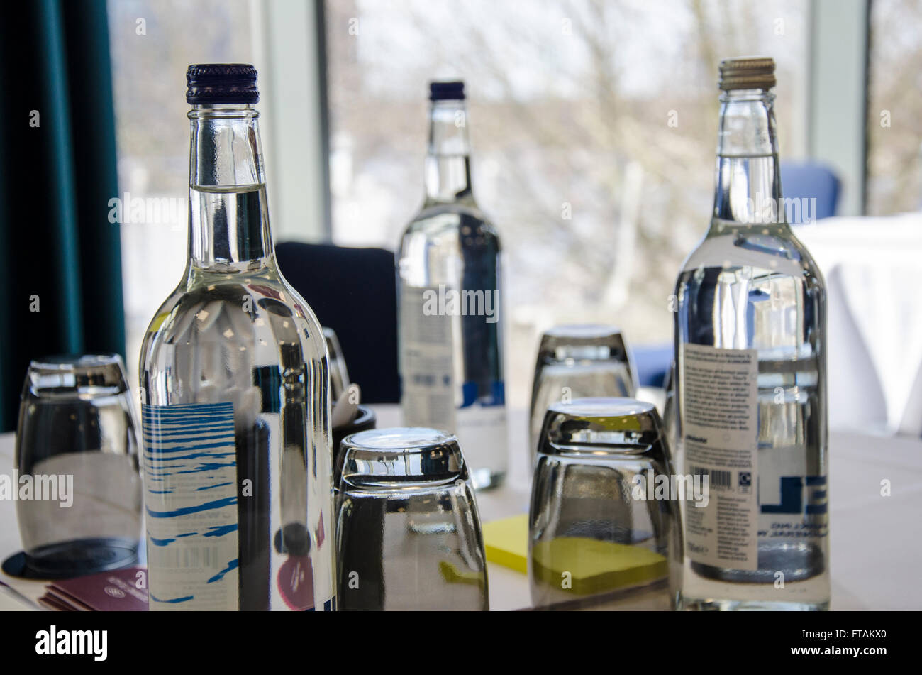
[[[185,70],[194,63],[251,60],[250,7],[248,0],[109,3],[119,196],[145,204],[143,218],[129,216],[121,226],[126,368],[133,386],[144,333],[185,266]],[[148,214],[148,204],[158,208]]]

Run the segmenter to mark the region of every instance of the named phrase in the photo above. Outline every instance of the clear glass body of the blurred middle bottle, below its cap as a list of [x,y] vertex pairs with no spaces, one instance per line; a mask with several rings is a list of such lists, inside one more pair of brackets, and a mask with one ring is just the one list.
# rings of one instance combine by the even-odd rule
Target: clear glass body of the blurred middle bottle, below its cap
[[475,487],[508,463],[500,239],[474,202],[464,101],[431,106],[426,197],[397,252],[404,423],[455,433]]

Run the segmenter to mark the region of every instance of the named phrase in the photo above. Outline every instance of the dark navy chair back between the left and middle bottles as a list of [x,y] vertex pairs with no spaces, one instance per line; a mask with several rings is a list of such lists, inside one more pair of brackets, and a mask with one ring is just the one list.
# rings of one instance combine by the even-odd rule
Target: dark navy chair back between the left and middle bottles
[[361,386],[361,402],[399,402],[394,254],[286,242],[276,246],[276,257],[320,323],[337,332],[349,379]]

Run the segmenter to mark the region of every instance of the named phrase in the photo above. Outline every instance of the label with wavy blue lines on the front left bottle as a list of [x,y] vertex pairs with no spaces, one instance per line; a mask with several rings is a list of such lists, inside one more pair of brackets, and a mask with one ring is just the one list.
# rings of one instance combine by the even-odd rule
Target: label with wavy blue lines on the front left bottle
[[150,609],[237,610],[233,404],[141,412]]

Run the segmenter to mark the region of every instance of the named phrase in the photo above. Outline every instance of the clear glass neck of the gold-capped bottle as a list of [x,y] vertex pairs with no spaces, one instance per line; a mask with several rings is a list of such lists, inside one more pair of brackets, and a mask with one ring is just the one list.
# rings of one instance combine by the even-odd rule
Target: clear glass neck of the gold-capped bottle
[[714,219],[721,227],[786,223],[771,91],[721,96],[715,184]]

